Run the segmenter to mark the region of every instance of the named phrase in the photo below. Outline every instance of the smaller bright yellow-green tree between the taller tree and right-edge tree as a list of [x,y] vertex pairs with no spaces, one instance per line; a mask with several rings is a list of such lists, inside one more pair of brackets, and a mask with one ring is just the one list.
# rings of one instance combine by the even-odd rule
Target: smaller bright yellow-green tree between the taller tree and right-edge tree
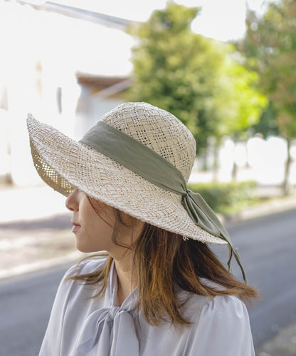
[[[217,153],[221,138],[230,136],[235,143],[248,138],[248,128],[258,123],[268,103],[258,91],[258,74],[248,71],[234,60],[234,54],[233,47],[228,45],[216,96],[213,98],[213,116],[216,118],[214,177],[218,170]],[[233,163],[233,180],[236,180],[237,170],[236,163]]]

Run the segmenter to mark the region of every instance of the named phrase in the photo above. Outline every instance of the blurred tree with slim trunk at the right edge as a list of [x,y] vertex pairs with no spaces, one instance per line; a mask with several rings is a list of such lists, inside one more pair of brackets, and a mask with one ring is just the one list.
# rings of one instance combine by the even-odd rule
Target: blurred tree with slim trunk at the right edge
[[[296,137],[296,0],[269,4],[263,16],[248,11],[247,32],[239,48],[260,75],[277,116],[280,135],[287,140],[284,193],[289,192],[290,143]],[[272,118],[273,116],[270,116]]]

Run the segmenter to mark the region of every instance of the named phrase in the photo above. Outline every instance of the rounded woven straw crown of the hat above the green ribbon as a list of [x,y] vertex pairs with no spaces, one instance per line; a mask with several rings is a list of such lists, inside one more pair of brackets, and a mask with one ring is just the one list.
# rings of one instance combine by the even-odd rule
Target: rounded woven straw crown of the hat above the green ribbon
[[188,181],[196,156],[196,141],[174,115],[149,103],[123,103],[102,116],[102,121],[151,148]]

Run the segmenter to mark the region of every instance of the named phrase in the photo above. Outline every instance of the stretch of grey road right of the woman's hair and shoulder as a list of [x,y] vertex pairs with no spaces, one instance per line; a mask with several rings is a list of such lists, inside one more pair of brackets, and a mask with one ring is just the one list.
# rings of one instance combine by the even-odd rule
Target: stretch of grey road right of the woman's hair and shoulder
[[[296,322],[296,210],[228,226],[249,283],[263,300],[249,307],[256,346]],[[235,274],[239,270],[235,268]]]

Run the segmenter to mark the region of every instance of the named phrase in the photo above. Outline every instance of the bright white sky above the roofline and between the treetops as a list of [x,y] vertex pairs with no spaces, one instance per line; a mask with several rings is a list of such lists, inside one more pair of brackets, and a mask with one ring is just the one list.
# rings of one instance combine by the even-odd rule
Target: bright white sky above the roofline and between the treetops
[[[135,21],[147,21],[154,9],[164,9],[166,6],[166,0],[52,1]],[[176,0],[175,2],[185,6],[202,6],[200,15],[192,24],[194,32],[220,41],[243,37],[245,32],[245,0]],[[248,6],[260,11],[265,2],[267,1],[248,0]]]

